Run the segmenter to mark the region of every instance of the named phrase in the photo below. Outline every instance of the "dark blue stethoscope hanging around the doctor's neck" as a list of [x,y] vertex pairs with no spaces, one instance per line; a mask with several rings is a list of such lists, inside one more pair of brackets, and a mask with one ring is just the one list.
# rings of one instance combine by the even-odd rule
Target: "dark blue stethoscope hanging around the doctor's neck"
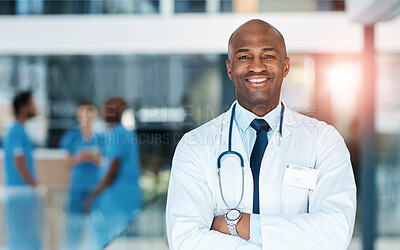
[[[281,141],[282,141],[282,123],[283,123],[283,114],[285,113],[285,105],[283,103],[282,104],[282,108],[281,108],[281,116],[280,116],[280,121],[279,121],[279,137],[278,137],[278,141],[277,144],[280,145]],[[222,197],[222,201],[225,203],[226,208],[230,208],[228,203],[225,200],[224,197],[224,193],[222,191],[222,184],[221,184],[221,161],[223,157],[226,157],[227,155],[231,155],[237,159],[239,159],[240,161],[240,167],[242,170],[242,194],[240,195],[240,200],[237,203],[237,205],[234,208],[239,208],[239,205],[242,203],[243,200],[243,194],[244,194],[244,160],[243,160],[243,156],[236,151],[232,150],[232,129],[233,129],[233,118],[235,117],[235,109],[236,108],[236,103],[233,105],[232,107],[232,111],[231,111],[231,119],[229,122],[229,137],[228,137],[228,150],[222,152],[219,156],[218,156],[218,160],[217,160],[217,171],[218,171],[218,181],[219,181],[219,190],[221,192],[221,197]]]

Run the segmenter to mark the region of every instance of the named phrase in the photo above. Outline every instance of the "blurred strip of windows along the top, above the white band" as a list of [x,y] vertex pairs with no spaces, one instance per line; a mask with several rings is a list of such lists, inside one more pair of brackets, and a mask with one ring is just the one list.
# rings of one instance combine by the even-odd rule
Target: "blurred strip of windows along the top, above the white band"
[[0,15],[156,14],[162,1],[175,13],[344,11],[344,0],[1,0]]

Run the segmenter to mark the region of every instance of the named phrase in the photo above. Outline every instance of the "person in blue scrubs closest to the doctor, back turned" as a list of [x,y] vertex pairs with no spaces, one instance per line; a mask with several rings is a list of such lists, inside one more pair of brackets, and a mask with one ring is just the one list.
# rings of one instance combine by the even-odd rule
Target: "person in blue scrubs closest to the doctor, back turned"
[[99,185],[86,201],[86,209],[93,203],[97,246],[104,247],[121,233],[140,211],[142,191],[139,147],[133,131],[122,124],[127,103],[121,98],[110,98],[102,108],[104,120],[110,126],[105,135],[104,173]]

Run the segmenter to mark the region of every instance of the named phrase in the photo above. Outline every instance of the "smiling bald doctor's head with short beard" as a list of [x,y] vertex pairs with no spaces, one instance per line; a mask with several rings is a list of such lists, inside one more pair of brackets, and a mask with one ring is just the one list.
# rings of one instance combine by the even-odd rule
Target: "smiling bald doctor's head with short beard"
[[251,20],[232,34],[228,57],[226,68],[239,104],[258,116],[275,108],[290,68],[282,35],[264,21]]

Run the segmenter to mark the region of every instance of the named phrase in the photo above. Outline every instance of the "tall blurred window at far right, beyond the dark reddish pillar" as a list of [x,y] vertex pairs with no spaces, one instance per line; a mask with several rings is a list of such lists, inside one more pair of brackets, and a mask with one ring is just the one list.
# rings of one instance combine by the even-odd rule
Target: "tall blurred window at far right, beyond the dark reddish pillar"
[[379,55],[377,66],[377,233],[400,237],[400,55]]

